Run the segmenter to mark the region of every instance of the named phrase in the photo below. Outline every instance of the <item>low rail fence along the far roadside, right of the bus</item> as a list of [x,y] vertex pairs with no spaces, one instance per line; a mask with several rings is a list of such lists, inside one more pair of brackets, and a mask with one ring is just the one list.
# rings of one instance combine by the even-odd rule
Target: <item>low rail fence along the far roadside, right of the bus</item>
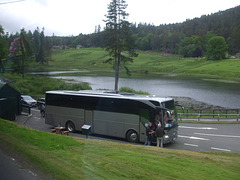
[[185,109],[179,120],[239,121],[239,109]]

